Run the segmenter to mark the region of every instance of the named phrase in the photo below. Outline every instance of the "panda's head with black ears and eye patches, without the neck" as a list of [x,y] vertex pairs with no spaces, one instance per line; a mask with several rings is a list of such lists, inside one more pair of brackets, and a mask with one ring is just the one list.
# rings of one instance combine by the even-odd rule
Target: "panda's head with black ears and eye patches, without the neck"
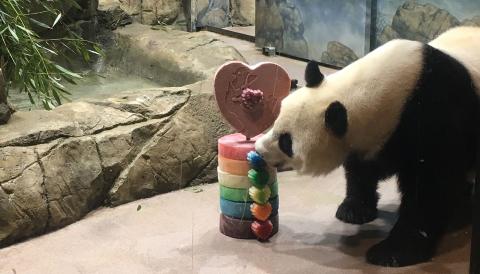
[[347,154],[344,137],[348,112],[326,88],[318,63],[309,62],[306,87],[282,101],[273,127],[256,143],[265,161],[301,174],[326,174],[341,165]]

